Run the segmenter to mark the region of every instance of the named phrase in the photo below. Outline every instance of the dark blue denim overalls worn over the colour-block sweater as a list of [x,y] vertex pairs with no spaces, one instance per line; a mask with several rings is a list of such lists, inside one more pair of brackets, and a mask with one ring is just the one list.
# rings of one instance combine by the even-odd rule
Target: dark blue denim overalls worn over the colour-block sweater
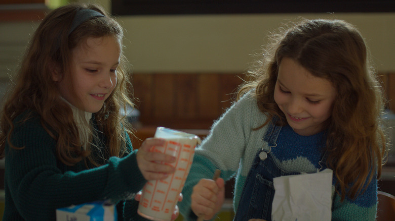
[[[262,139],[274,146],[280,130],[281,127],[271,123]],[[299,174],[281,169],[275,163],[271,152],[268,152],[265,160],[261,160],[259,157],[261,151],[257,152],[247,176],[239,207],[233,219],[235,221],[247,221],[251,218],[271,220],[271,204],[274,198],[273,178]]]

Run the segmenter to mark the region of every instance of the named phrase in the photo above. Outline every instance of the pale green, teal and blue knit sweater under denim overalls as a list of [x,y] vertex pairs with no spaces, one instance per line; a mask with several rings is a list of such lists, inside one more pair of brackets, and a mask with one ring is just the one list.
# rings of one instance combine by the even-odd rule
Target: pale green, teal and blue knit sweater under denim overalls
[[[266,120],[259,110],[257,100],[250,93],[235,102],[221,118],[213,124],[210,135],[196,148],[192,167],[183,188],[184,199],[179,203],[180,212],[187,220],[195,215],[190,210],[190,195],[193,186],[201,179],[211,179],[215,169],[222,171],[221,177],[229,180],[235,176],[233,208],[236,211],[246,177],[254,157],[262,148],[267,127],[258,128]],[[278,165],[287,171],[313,173],[320,169],[323,133],[300,136],[289,126],[282,128],[277,146],[271,151]],[[317,145],[317,146],[316,146]],[[350,159],[352,160],[352,159]],[[377,180],[373,179],[367,190],[356,199],[346,197],[340,202],[332,183],[332,220],[375,220],[377,205]]]

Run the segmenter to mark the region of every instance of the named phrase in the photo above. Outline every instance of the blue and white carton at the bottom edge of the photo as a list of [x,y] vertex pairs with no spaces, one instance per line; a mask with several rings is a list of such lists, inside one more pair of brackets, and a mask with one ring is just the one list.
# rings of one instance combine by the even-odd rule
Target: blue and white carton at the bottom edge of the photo
[[115,221],[115,205],[94,201],[56,210],[56,221]]

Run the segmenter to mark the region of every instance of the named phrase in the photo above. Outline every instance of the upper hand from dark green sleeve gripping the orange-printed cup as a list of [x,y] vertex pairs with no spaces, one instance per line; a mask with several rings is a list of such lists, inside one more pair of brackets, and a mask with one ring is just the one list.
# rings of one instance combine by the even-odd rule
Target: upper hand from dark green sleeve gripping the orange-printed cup
[[175,162],[176,157],[150,151],[153,146],[164,144],[165,140],[158,138],[148,138],[141,144],[136,158],[140,172],[146,180],[163,180],[175,172],[175,168],[169,164]]

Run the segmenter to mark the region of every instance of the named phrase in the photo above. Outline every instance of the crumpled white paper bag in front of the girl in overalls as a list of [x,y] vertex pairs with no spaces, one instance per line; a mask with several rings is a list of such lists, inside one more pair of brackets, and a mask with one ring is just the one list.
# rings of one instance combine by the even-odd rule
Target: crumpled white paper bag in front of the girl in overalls
[[332,170],[277,177],[273,185],[273,221],[331,220]]

